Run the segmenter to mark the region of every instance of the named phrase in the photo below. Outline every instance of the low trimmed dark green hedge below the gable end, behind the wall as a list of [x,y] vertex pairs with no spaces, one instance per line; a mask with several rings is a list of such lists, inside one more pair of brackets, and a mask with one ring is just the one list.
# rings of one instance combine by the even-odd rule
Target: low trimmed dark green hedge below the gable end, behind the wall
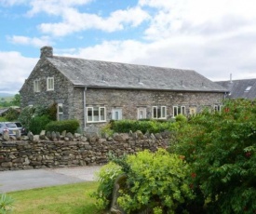
[[67,132],[71,132],[74,134],[74,132],[79,127],[78,120],[62,120],[62,121],[52,121],[49,122],[46,126],[47,131],[56,131],[56,132],[62,132],[66,130]]

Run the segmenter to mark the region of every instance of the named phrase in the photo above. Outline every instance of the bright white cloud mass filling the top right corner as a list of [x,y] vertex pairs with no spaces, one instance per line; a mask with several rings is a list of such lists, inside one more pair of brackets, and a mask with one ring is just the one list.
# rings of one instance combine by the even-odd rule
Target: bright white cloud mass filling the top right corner
[[[253,0],[140,0],[141,7],[154,7],[156,13],[145,35],[149,39],[169,37],[173,33],[222,33],[254,27]],[[205,32],[204,32],[205,31]]]

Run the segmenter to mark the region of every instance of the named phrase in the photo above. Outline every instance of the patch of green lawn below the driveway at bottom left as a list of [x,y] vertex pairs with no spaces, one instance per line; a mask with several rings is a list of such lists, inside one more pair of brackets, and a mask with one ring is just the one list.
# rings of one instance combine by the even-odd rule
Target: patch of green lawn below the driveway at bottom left
[[88,181],[7,193],[14,202],[15,214],[100,214],[94,198],[98,182]]

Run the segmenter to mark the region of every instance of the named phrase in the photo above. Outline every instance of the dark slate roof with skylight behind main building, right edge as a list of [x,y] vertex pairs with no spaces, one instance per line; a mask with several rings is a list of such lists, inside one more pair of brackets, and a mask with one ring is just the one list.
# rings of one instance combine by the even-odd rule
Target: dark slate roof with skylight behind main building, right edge
[[227,98],[256,99],[256,79],[218,81],[216,83],[228,89],[229,94]]

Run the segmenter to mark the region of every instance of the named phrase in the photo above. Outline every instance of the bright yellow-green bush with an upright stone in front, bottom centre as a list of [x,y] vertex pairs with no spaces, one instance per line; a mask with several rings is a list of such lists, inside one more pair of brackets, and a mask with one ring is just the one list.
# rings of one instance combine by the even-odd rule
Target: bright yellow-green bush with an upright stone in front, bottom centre
[[[159,149],[155,154],[143,151],[121,158],[112,156],[111,164],[100,172],[97,191],[101,207],[109,207],[114,181],[125,173],[127,181],[119,191],[117,203],[127,213],[154,210],[155,213],[185,211],[185,205],[194,197],[187,180],[190,170],[177,154]],[[116,167],[116,166],[119,167]]]

